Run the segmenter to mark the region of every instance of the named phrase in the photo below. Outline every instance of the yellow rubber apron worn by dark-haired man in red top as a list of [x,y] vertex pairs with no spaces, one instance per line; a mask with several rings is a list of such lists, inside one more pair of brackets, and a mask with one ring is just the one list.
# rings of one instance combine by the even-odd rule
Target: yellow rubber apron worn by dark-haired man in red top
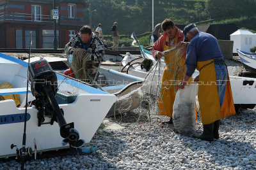
[[[168,37],[166,38],[168,41]],[[165,43],[164,51],[174,46],[168,46]],[[175,36],[175,44],[177,44],[177,35]],[[162,83],[159,92],[159,115],[172,117],[173,103],[178,90],[179,82],[183,80],[186,74],[185,59],[182,55],[176,55],[177,49],[164,55],[166,66],[163,70]]]

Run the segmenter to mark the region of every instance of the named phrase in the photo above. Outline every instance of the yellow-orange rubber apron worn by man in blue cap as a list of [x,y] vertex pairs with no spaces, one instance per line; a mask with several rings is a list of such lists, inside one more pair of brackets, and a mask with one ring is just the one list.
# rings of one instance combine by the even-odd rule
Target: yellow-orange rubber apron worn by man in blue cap
[[200,70],[198,102],[203,125],[211,124],[216,120],[236,114],[229,77],[224,101],[220,107],[214,60],[197,62],[196,69]]

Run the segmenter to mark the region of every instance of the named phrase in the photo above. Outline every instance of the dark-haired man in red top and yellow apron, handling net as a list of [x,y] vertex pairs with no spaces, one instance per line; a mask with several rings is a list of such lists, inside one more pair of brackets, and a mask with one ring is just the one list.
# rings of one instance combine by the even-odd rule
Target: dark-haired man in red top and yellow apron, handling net
[[177,55],[177,50],[173,50],[167,55],[163,55],[163,51],[177,46],[179,42],[183,41],[183,32],[175,26],[170,19],[165,19],[162,22],[163,35],[157,39],[152,46],[152,55],[155,59],[164,57],[166,66],[164,67],[162,83],[159,92],[159,115],[166,115],[170,117],[167,124],[172,124],[172,111],[175,94],[177,92],[176,81],[182,81],[186,73],[185,59],[186,51],[180,52]]

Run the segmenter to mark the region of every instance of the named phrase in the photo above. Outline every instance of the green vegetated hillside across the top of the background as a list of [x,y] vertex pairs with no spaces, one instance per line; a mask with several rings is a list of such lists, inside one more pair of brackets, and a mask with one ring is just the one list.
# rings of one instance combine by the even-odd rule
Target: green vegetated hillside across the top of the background
[[[151,0],[88,0],[92,10],[92,28],[102,24],[103,33],[110,34],[118,22],[120,34],[152,31]],[[171,18],[175,24],[221,24],[234,22],[239,27],[256,30],[255,0],[154,0],[154,24]],[[84,10],[85,24],[89,10]]]

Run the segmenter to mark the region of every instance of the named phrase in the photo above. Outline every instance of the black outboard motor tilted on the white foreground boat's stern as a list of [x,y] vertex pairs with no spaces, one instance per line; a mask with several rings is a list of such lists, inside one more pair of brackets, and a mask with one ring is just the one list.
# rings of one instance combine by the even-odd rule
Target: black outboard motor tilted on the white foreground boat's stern
[[64,112],[56,101],[57,76],[47,60],[40,59],[29,64],[29,80],[31,81],[31,92],[36,98],[32,104],[38,110],[38,126],[45,124],[45,117],[50,117],[51,125],[55,121],[60,126],[60,136],[64,138],[63,145],[69,143],[73,148],[83,146],[85,141],[79,139],[79,133],[74,129],[74,122],[67,124]]

